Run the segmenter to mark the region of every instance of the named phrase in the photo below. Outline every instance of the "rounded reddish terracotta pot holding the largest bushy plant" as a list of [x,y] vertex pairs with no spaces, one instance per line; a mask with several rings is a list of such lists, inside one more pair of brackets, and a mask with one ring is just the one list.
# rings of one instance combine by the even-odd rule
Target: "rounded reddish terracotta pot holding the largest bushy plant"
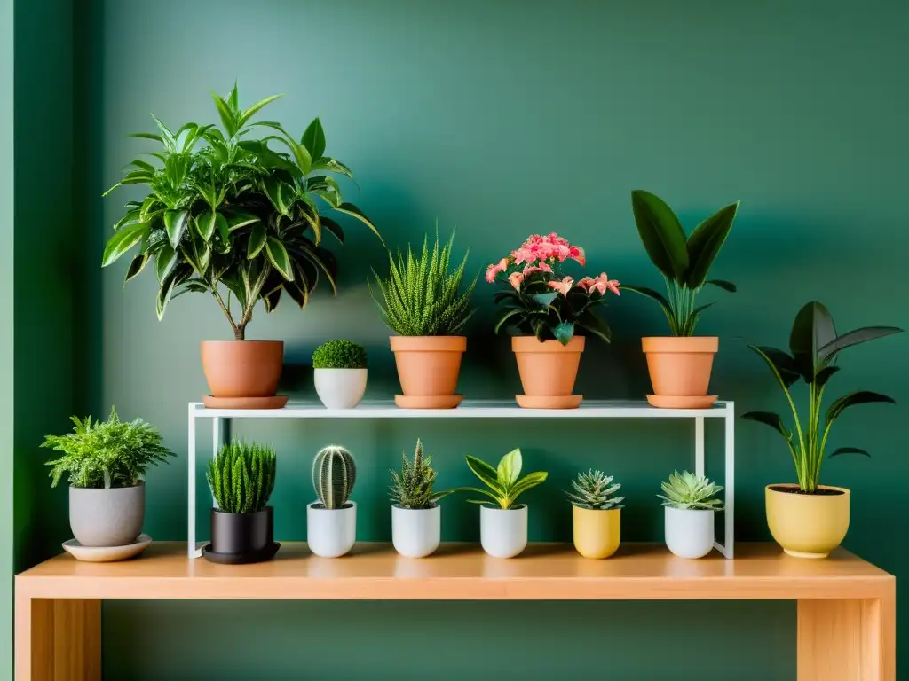
[[273,397],[284,341],[202,341],[202,370],[216,398]]

